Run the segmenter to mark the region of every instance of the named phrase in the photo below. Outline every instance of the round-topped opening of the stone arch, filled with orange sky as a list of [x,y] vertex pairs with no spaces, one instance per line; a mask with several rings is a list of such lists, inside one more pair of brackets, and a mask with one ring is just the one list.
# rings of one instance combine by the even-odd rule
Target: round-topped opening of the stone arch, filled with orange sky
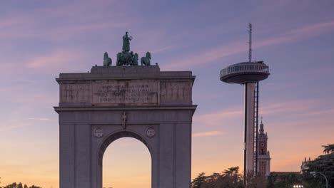
[[111,142],[103,154],[103,187],[151,188],[151,154],[133,137]]

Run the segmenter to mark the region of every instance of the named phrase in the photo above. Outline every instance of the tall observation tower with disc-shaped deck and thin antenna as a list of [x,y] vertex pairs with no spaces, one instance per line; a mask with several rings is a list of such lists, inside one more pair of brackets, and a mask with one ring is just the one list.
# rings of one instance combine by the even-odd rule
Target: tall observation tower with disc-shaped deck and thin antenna
[[[236,63],[221,70],[220,78],[225,83],[245,85],[245,132],[244,132],[244,175],[258,172],[258,82],[270,75],[263,61],[252,61],[252,24],[249,23],[249,60]],[[244,180],[245,182],[245,180]],[[246,183],[246,182],[245,182]]]

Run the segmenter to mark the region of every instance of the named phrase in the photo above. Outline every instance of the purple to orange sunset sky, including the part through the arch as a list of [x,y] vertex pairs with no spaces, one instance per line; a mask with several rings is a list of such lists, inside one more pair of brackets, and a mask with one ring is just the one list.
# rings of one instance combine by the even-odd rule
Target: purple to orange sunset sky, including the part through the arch
[[[87,72],[107,51],[116,61],[125,31],[131,51],[161,71],[193,71],[192,177],[243,169],[243,86],[219,71],[253,60],[260,83],[271,171],[299,171],[334,143],[334,1],[1,1],[0,186],[59,187],[59,73]],[[133,162],[133,158],[136,160]],[[103,157],[103,187],[151,187],[151,158],[122,138]]]

